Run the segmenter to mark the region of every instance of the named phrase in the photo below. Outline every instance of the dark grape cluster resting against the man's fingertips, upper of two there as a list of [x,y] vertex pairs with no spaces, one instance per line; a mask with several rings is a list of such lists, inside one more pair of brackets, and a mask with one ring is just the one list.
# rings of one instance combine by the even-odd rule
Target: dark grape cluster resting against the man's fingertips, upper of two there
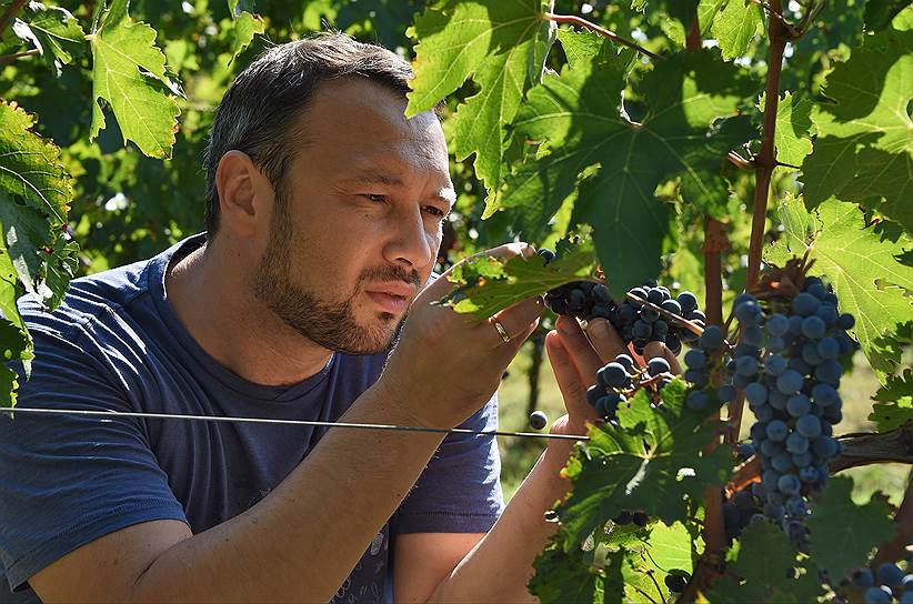
[[[555,258],[551,250],[539,250],[539,254],[546,263]],[[628,294],[621,302],[615,302],[604,284],[574,281],[550,290],[545,294],[545,305],[556,314],[586,321],[598,318],[608,320],[624,343],[632,344],[638,354],[643,354],[650,342],[663,342],[673,354],[679,354],[682,342],[694,342],[698,338],[681,324],[666,320],[668,315],[663,316],[656,308],[693,321],[699,326],[706,322],[706,316],[698,309],[698,298],[691,292],[681,292],[673,299],[669,289],[658,285],[655,281],[645,281]]]

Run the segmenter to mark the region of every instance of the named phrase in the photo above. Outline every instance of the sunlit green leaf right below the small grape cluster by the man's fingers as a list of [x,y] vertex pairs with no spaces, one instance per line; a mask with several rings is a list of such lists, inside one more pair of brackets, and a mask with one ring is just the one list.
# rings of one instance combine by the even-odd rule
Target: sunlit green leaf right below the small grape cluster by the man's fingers
[[[688,499],[723,484],[732,469],[725,447],[705,454],[718,425],[684,406],[685,385],[663,389],[663,410],[639,391],[618,411],[619,425],[590,429],[565,467],[573,491],[558,509],[568,544],[580,543],[621,510],[643,510],[665,524],[688,517]],[[709,412],[708,412],[709,413]]]

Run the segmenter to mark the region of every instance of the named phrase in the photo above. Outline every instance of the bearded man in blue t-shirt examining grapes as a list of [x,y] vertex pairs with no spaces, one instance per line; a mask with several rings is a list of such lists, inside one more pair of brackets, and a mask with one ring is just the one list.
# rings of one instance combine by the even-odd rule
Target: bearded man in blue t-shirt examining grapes
[[[454,191],[435,115],[403,117],[410,77],[339,34],[250,66],[212,128],[207,234],[52,314],[22,301],[19,405],[493,429],[542,304],[474,324],[432,304],[445,279],[422,289]],[[620,344],[559,329],[552,431],[580,433]],[[491,437],[21,413],[0,417],[0,554],[46,602],[381,601],[391,566],[397,601],[519,602],[569,452],[503,509]]]

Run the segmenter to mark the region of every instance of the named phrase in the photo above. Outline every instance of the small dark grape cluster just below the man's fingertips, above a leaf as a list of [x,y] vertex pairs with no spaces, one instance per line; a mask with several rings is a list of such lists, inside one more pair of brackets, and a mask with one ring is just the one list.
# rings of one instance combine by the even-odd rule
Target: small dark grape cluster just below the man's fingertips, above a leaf
[[621,403],[648,385],[662,390],[672,381],[671,371],[669,361],[660,356],[648,361],[646,369],[641,369],[631,355],[619,354],[596,372],[596,383],[586,391],[586,402],[595,407],[600,417],[614,421]]

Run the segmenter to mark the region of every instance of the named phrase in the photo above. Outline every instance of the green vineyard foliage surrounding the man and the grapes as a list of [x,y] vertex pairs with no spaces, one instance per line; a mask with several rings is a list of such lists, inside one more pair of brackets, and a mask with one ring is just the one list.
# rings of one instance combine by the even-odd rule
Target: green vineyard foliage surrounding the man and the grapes
[[[445,101],[459,199],[443,255],[509,239],[559,252],[458,266],[459,311],[486,318],[582,279],[604,279],[619,299],[653,278],[729,310],[762,252],[769,266],[804,258],[855,316],[850,334],[882,382],[879,432],[910,426],[903,0],[0,0],[7,360],[28,369],[33,356],[19,295],[52,310],[72,278],[202,229],[201,160],[227,85],[271,43],[329,28],[412,60],[408,115]],[[714,254],[720,274],[706,269]],[[9,406],[16,374],[0,371]],[[841,590],[859,601],[840,581],[897,538],[896,511],[877,495],[856,505],[837,476],[813,502],[807,548],[770,523],[720,548],[708,493],[745,469],[730,441],[716,446],[731,410],[692,412],[688,387],[666,385],[662,413],[641,391],[616,422],[592,426],[565,469],[574,489],[553,511],[561,528],[531,592],[664,602],[665,578],[680,574],[693,575],[689,597],[712,603]],[[612,522],[632,509],[650,523]]]

